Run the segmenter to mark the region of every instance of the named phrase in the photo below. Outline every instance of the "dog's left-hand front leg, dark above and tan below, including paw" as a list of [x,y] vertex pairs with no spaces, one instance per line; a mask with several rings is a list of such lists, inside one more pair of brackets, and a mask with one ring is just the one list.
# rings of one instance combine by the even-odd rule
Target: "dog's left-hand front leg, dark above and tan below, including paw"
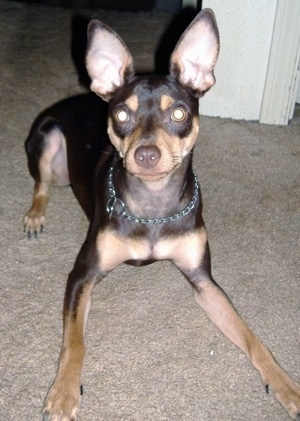
[[[85,355],[84,331],[95,284],[104,277],[77,259],[69,275],[64,299],[64,338],[58,373],[46,397],[44,421],[75,421]],[[97,273],[97,272],[96,272]]]

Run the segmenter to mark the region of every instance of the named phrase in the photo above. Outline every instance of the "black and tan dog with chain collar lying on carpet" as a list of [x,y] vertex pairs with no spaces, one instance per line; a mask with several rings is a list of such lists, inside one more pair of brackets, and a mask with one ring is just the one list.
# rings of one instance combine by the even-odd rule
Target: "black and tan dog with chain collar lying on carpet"
[[[90,220],[70,272],[63,306],[63,345],[43,420],[76,420],[85,355],[84,330],[95,285],[122,263],[170,260],[193,287],[215,325],[250,359],[268,391],[300,419],[300,387],[240,318],[213,280],[199,183],[192,167],[199,98],[215,83],[217,23],[201,11],[179,39],[170,72],[135,75],[122,39],[105,24],[88,25],[86,66],[94,94],[42,113],[26,141],[35,180],[25,216],[28,236],[45,224],[51,184],[71,184]],[[101,98],[99,98],[101,97]]]

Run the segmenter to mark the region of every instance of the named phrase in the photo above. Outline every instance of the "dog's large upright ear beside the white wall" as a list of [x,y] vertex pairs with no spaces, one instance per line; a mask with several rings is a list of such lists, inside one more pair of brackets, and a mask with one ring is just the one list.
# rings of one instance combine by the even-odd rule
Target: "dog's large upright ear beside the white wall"
[[219,31],[212,10],[202,10],[185,30],[171,56],[170,72],[201,97],[215,84]]

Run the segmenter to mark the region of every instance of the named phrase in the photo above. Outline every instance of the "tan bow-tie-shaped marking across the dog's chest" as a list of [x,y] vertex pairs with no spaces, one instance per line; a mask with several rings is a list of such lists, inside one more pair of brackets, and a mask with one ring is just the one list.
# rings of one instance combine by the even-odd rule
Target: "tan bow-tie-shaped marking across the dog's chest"
[[163,238],[153,246],[147,239],[119,236],[114,231],[103,231],[97,237],[101,270],[111,271],[127,260],[171,260],[181,269],[193,270],[201,265],[207,234],[205,228],[178,236]]

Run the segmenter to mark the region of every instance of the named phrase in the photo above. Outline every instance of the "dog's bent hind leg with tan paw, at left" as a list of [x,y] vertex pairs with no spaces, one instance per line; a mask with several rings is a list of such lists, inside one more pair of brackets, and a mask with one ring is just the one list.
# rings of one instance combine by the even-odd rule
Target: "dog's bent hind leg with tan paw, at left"
[[33,127],[25,144],[28,166],[35,180],[32,205],[24,217],[28,237],[37,236],[45,225],[45,210],[51,184],[70,184],[66,141],[62,129],[52,118]]

